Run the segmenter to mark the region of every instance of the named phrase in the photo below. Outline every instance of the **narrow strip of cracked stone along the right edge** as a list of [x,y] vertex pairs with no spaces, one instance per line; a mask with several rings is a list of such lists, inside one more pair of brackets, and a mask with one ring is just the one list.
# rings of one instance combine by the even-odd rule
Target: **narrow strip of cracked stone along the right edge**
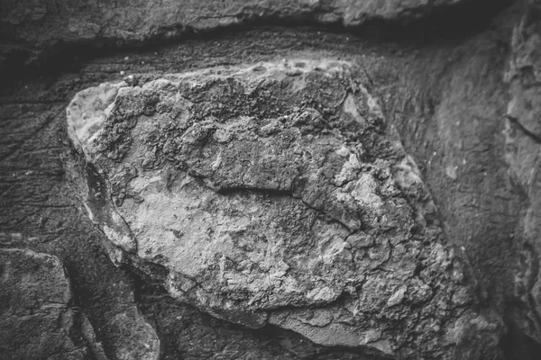
[[506,119],[506,157],[527,196],[523,256],[515,277],[523,304],[518,326],[541,342],[541,2],[529,1],[515,28],[506,80],[510,101]]

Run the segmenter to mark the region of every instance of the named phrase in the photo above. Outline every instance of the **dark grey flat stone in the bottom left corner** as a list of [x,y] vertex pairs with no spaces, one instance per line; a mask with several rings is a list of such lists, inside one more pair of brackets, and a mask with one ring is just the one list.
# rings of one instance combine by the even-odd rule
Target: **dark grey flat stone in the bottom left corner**
[[105,359],[58,257],[0,249],[0,287],[3,359]]

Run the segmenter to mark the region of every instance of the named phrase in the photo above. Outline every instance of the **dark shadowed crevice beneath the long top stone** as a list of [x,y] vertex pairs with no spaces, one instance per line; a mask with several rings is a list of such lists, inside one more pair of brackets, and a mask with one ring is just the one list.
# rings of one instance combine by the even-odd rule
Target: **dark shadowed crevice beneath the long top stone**
[[[39,76],[50,72],[77,71],[85,58],[99,58],[120,51],[156,49],[160,46],[184,40],[219,39],[235,32],[271,27],[291,31],[303,27],[314,31],[327,31],[352,35],[370,42],[399,42],[423,45],[433,43],[438,47],[464,40],[487,28],[493,18],[518,0],[477,0],[459,4],[427,5],[426,8],[409,9],[394,19],[372,17],[363,19],[359,25],[346,26],[342,20],[321,23],[316,20],[322,9],[307,14],[280,16],[269,14],[242,19],[240,23],[218,25],[205,31],[188,24],[160,28],[154,35],[142,40],[124,40],[96,36],[91,40],[56,40],[46,48],[32,47],[23,40],[2,34],[6,50],[0,56],[0,76],[8,81],[21,77]],[[226,17],[226,16],[223,16]],[[176,32],[170,36],[171,30]],[[11,39],[10,39],[11,38]]]

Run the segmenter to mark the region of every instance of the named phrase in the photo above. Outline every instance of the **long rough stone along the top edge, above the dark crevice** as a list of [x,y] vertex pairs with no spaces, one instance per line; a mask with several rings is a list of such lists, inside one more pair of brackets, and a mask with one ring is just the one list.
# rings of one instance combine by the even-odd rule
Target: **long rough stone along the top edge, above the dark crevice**
[[62,44],[138,44],[259,21],[304,20],[358,26],[411,20],[479,0],[0,1],[2,60],[32,62]]

